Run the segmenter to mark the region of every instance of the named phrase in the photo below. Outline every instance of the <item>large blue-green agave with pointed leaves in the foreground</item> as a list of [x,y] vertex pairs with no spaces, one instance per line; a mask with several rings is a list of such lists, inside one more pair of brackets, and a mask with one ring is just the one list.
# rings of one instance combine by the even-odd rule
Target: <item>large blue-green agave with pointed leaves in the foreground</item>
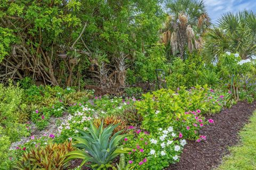
[[[93,122],[90,122],[89,132],[78,130],[82,137],[72,137],[76,140],[75,147],[80,148],[78,151],[71,151],[66,156],[70,156],[70,159],[83,159],[81,166],[85,165],[92,169],[107,169],[113,167],[111,160],[117,157],[121,153],[127,153],[129,148],[121,148],[118,146],[119,141],[128,136],[128,134],[121,134],[122,131],[118,131],[111,137],[114,129],[118,126],[109,125],[103,129],[103,121],[99,128],[97,128]],[[110,139],[111,137],[111,139]],[[86,164],[89,163],[90,164]]]

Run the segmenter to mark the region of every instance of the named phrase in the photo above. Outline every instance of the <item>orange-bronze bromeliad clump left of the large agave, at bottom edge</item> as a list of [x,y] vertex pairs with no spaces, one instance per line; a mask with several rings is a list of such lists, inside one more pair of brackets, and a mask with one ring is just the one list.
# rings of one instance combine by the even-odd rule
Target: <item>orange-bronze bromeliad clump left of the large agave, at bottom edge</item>
[[38,146],[25,152],[18,162],[17,169],[65,169],[69,163],[66,154],[75,150],[71,142]]

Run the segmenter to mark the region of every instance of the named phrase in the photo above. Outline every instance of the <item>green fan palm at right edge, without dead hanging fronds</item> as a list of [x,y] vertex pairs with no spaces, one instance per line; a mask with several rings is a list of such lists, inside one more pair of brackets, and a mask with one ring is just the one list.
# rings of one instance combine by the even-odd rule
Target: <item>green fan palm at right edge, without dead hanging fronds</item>
[[242,59],[256,53],[256,16],[252,11],[227,13],[204,36],[202,55],[212,62],[225,53],[238,52]]

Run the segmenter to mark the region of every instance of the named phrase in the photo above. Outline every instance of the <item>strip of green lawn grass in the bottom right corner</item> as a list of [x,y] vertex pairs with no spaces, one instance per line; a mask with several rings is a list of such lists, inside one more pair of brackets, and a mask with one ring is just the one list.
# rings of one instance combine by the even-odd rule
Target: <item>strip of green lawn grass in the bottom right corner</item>
[[256,169],[256,111],[239,133],[241,145],[231,147],[230,155],[215,170],[255,170]]

